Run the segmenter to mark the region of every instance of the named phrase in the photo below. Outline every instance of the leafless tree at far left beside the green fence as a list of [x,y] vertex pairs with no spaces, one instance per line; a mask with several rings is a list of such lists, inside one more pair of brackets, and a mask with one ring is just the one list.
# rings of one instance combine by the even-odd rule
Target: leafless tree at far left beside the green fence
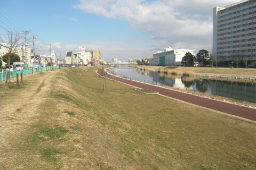
[[19,33],[17,31],[13,30],[13,28],[11,29],[11,31],[6,30],[6,32],[7,32],[7,37],[6,38],[0,36],[0,40],[1,40],[0,45],[6,49],[7,53],[9,53],[9,56],[8,56],[8,66],[9,66],[8,77],[9,77],[9,83],[11,83],[11,80],[10,80],[11,54],[15,53],[15,50],[17,49],[17,47],[19,47],[21,45],[20,40],[24,36],[23,36],[22,33]]

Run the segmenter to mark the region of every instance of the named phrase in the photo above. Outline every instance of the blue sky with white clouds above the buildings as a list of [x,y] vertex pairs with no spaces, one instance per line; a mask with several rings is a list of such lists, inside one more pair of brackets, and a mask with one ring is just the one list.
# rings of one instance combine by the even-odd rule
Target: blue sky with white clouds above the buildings
[[36,54],[101,51],[101,59],[151,58],[164,48],[212,51],[213,7],[234,0],[1,0],[0,36],[36,36]]

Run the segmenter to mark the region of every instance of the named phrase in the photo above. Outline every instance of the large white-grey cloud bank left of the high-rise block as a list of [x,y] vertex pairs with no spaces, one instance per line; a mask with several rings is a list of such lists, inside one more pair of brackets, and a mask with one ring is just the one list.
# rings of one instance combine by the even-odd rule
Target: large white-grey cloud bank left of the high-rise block
[[[130,28],[151,33],[152,44],[145,50],[212,48],[212,12],[234,0],[80,0],[74,5],[86,13],[130,22]],[[140,49],[137,49],[140,51]],[[146,51],[145,51],[146,53]]]

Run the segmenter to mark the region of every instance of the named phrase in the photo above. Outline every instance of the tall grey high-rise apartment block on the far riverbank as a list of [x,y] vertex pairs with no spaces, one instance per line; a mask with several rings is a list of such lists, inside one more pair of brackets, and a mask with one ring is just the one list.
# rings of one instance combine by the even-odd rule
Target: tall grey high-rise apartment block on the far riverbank
[[213,8],[213,57],[256,65],[256,0]]

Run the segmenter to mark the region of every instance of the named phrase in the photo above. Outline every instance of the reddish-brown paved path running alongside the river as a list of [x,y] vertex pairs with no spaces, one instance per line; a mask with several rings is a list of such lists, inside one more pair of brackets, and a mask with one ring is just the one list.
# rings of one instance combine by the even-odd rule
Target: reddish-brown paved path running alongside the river
[[[104,75],[105,74],[104,69],[99,69],[98,74]],[[113,79],[113,75],[110,75],[108,73],[106,73],[106,77],[109,79]],[[135,87],[138,87],[141,89],[153,90],[153,91],[158,92],[161,95],[168,96],[168,97],[175,98],[175,99],[182,100],[182,101],[186,101],[186,102],[194,104],[194,105],[210,108],[215,111],[219,111],[219,112],[243,117],[248,120],[256,121],[256,109],[254,109],[254,108],[245,107],[245,106],[241,106],[241,105],[235,105],[235,104],[231,104],[231,103],[226,103],[223,101],[205,98],[205,97],[201,97],[201,96],[191,95],[191,94],[187,94],[184,92],[175,91],[172,89],[166,89],[166,88],[162,88],[159,86],[154,86],[151,84],[128,80],[128,79],[124,79],[124,78],[120,78],[120,77],[114,77],[114,80],[129,84],[131,86],[135,86]]]

